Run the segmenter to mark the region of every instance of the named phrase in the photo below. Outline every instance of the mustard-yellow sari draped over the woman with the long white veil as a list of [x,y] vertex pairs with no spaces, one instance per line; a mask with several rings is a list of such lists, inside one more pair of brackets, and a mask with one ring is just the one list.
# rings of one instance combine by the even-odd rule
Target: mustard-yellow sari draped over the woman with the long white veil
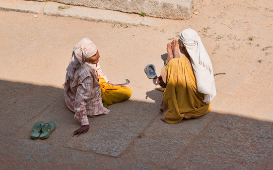
[[210,111],[211,104],[202,102],[204,94],[197,91],[196,79],[186,56],[171,59],[165,71],[167,87],[163,93],[163,121],[178,123],[183,118],[199,117]]

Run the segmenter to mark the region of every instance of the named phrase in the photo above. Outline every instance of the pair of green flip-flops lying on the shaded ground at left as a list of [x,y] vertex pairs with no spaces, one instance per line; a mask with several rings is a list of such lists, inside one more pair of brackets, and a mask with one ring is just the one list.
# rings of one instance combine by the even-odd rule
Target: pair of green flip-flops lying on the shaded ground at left
[[30,134],[31,139],[46,139],[50,133],[55,129],[56,125],[53,121],[45,123],[44,121],[38,121],[34,124],[32,132]]

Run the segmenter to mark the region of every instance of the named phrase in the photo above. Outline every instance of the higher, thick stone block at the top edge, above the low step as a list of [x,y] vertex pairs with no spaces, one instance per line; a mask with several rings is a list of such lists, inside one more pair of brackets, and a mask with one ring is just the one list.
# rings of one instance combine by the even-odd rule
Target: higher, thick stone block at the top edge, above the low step
[[80,5],[109,9],[126,13],[145,13],[146,16],[181,19],[191,18],[194,0],[34,0],[55,1],[69,5]]

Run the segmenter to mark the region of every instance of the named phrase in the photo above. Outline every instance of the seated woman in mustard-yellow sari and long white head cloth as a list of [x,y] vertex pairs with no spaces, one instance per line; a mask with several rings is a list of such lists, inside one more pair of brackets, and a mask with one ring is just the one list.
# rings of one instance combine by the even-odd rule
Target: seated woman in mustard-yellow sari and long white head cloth
[[216,89],[212,64],[197,32],[183,30],[179,41],[168,43],[167,52],[167,65],[158,77],[159,85],[165,88],[161,119],[172,124],[208,113]]

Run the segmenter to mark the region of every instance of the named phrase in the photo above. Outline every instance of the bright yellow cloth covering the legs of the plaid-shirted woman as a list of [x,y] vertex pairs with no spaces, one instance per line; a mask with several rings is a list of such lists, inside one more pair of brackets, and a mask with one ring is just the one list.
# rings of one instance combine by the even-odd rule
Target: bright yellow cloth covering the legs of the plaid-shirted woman
[[108,106],[125,101],[132,95],[132,90],[129,87],[109,85],[102,77],[99,77],[99,84],[102,101]]

